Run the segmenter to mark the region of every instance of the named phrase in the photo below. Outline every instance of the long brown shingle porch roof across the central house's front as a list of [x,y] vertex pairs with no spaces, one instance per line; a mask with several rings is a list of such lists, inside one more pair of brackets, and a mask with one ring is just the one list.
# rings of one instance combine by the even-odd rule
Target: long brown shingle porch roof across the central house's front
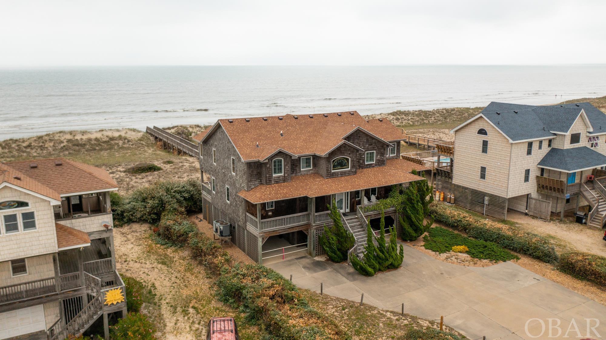
[[390,159],[387,160],[385,166],[360,169],[355,175],[334,178],[322,178],[319,174],[292,176],[289,182],[259,185],[250,191],[238,192],[238,195],[251,203],[285,200],[302,196],[318,197],[337,192],[421,180],[422,177],[410,174],[413,169],[423,171],[429,168],[403,159]]

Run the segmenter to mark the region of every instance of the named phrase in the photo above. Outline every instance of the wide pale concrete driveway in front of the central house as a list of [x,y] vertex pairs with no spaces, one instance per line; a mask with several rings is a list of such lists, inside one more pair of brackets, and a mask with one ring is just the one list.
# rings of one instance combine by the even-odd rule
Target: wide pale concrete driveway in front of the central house
[[[380,308],[400,311],[404,303],[405,313],[421,318],[443,315],[445,324],[470,339],[606,339],[606,306],[511,262],[458,266],[404,246],[400,269],[372,277],[308,256],[268,267],[293,275],[301,288],[319,292],[324,283],[324,293],[341,298],[360,301],[364,293],[365,303]],[[587,334],[587,319],[597,319],[589,322],[599,336]]]

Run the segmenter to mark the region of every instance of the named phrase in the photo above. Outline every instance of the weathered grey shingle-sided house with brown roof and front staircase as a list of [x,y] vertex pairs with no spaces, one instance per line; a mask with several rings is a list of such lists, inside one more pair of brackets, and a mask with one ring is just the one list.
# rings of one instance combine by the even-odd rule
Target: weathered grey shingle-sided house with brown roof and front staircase
[[[209,178],[204,218],[230,223],[231,241],[258,263],[282,252],[321,255],[333,201],[361,252],[366,220],[380,214],[373,204],[422,180],[413,169],[428,169],[400,159],[400,129],[356,111],[220,119],[194,139]],[[399,229],[395,209],[385,214]]]

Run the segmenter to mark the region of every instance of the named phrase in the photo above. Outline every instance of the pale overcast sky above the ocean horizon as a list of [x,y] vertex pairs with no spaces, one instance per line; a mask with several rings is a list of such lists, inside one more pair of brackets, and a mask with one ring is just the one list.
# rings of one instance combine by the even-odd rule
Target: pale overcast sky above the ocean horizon
[[604,13],[604,0],[0,0],[0,67],[593,64]]

